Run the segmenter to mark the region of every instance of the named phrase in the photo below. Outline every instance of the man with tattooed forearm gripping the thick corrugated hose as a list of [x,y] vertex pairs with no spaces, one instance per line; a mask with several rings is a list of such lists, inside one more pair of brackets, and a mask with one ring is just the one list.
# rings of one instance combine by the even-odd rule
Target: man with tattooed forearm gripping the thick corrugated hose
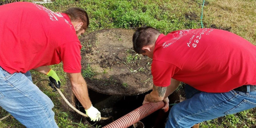
[[180,82],[187,100],[170,110],[166,128],[194,124],[256,107],[256,46],[228,31],[200,28],[161,34],[138,28],[134,51],[153,59],[153,91],[143,104],[163,100]]

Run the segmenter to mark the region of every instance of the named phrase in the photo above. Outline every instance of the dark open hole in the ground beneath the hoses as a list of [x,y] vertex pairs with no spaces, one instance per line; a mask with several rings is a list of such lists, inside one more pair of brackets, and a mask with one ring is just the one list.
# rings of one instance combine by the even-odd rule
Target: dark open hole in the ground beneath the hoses
[[[91,98],[92,104],[95,108],[97,108],[101,112],[102,117],[113,116],[113,119],[109,120],[100,120],[96,124],[95,122],[90,121],[89,118],[86,119],[90,124],[101,125],[104,127],[105,125],[117,120],[118,118],[130,113],[131,111],[139,108],[142,105],[144,97],[151,91],[145,92],[139,95],[133,96],[120,96],[120,95],[106,95],[98,92],[94,92],[89,90],[89,96]],[[169,96],[170,104],[179,102],[179,93],[174,92]],[[81,107],[78,107],[81,106]],[[85,113],[84,108],[80,104],[78,100],[76,100],[76,108],[81,112]],[[170,110],[170,109],[169,109]],[[169,111],[164,112],[162,109],[157,110],[156,112],[146,116],[140,121],[144,124],[145,128],[164,128],[165,122],[167,120]],[[78,117],[80,120],[81,118]],[[134,117],[135,118],[135,117]],[[128,127],[132,128],[132,126]]]

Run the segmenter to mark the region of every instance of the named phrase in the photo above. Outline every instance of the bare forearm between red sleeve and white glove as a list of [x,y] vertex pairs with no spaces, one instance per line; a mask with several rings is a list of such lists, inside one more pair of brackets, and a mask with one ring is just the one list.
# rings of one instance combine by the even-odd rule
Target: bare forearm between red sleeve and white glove
[[82,104],[84,109],[89,109],[92,102],[88,95],[87,84],[84,81],[81,73],[68,73],[71,82],[71,89],[74,92],[77,100]]

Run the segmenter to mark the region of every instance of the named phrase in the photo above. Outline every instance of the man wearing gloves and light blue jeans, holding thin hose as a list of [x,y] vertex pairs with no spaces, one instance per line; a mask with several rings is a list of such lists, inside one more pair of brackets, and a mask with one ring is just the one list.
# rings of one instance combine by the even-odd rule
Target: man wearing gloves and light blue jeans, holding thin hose
[[29,70],[46,74],[60,88],[59,77],[47,66],[62,61],[86,114],[100,120],[81,75],[78,36],[89,25],[87,13],[76,7],[52,12],[42,5],[16,2],[0,6],[0,15],[0,106],[28,128],[58,127],[52,101],[32,83]]

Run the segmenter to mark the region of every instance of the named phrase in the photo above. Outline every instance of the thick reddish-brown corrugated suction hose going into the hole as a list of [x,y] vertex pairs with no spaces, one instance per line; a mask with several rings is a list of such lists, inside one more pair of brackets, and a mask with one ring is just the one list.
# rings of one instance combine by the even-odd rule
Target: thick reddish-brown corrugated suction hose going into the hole
[[[103,128],[127,128],[132,124],[138,122],[139,120],[143,119],[144,117],[150,115],[151,113],[155,112],[156,110],[164,107],[164,101],[159,101],[156,103],[150,102],[136,108],[132,112],[122,116],[121,118],[115,120],[114,122],[104,126]],[[168,108],[165,109],[168,110]]]

